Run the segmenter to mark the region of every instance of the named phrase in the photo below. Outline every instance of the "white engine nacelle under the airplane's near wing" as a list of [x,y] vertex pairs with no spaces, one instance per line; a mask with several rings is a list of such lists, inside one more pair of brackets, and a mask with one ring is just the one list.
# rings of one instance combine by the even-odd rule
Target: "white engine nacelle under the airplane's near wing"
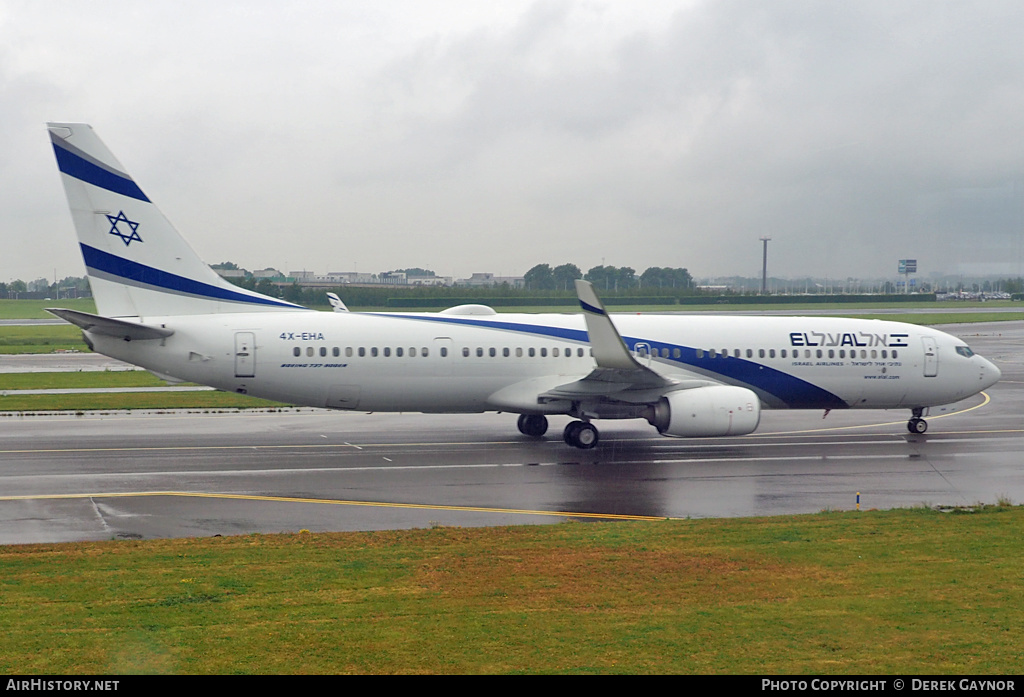
[[761,422],[761,400],[745,387],[678,390],[662,397],[647,421],[665,436],[743,436]]

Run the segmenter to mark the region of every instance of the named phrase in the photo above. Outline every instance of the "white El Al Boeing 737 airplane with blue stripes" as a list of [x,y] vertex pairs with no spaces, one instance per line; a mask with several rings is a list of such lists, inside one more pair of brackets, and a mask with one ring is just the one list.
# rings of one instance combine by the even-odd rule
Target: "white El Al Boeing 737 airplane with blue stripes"
[[[238,288],[197,256],[85,124],[49,124],[98,315],[50,312],[89,347],[159,376],[359,411],[520,415],[534,437],[568,415],[646,419],[666,436],[743,435],[762,408],[929,409],[999,371],[933,329],[876,319],[615,315],[577,281],[579,314],[317,312]],[[334,299],[332,299],[334,300]]]

